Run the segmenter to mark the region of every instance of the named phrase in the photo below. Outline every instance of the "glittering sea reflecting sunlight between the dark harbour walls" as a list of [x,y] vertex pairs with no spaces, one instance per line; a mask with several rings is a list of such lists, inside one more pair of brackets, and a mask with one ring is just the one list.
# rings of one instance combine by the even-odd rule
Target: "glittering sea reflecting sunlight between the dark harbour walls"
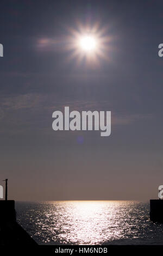
[[17,221],[40,244],[158,244],[163,225],[134,201],[17,202]]

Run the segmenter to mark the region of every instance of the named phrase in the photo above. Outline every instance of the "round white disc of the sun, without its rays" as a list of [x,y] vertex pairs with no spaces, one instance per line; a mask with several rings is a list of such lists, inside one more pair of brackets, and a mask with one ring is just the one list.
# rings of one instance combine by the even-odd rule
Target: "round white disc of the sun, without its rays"
[[86,52],[93,51],[97,47],[97,41],[91,35],[82,36],[80,38],[79,44],[80,47]]

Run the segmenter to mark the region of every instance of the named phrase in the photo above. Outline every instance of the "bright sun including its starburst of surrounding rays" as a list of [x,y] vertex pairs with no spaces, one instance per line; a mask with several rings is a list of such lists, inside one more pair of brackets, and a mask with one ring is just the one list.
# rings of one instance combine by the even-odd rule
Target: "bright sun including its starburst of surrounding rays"
[[108,34],[108,27],[102,27],[99,22],[85,26],[78,22],[76,29],[68,27],[68,33],[68,61],[74,59],[77,64],[85,63],[93,67],[100,65],[102,59],[110,60],[112,36]]

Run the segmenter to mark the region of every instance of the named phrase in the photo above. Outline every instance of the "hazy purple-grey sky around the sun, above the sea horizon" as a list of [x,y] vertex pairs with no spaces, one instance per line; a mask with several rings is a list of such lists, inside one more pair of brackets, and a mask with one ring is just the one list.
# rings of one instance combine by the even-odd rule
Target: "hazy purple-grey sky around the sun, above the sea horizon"
[[[157,0],[1,1],[1,180],[9,179],[10,199],[157,198],[162,8]],[[98,65],[71,58],[79,23],[98,23],[110,38]],[[53,131],[52,113],[64,106],[111,111],[111,136]]]

